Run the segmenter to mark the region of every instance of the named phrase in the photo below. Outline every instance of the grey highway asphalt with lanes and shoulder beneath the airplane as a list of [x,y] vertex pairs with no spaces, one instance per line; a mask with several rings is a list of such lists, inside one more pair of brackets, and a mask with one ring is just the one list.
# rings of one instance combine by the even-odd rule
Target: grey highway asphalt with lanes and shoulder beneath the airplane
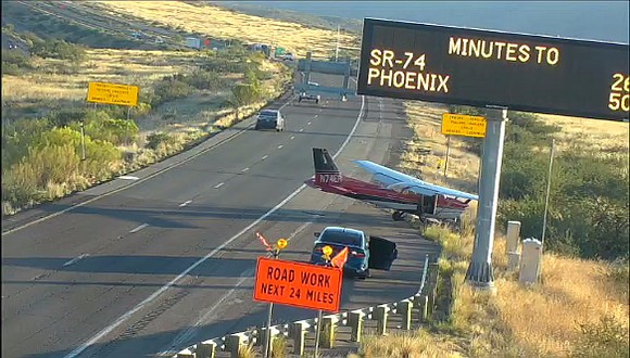
[[[387,213],[302,184],[313,175],[313,146],[337,153],[344,145],[337,161],[349,172],[351,159],[388,162],[404,125],[400,106],[361,97],[293,101],[282,108],[285,132],[238,131],[249,120],[131,174],[138,180],[3,219],[12,231],[2,234],[2,357],[155,356],[263,324],[266,305],[251,298],[255,258],[264,254],[255,231],[290,238],[284,255],[301,260],[313,231],[327,225],[391,236],[400,245],[392,271],[348,281],[342,309],[412,295],[434,245]],[[68,209],[72,203],[81,205]],[[313,315],[279,307],[275,317]]]

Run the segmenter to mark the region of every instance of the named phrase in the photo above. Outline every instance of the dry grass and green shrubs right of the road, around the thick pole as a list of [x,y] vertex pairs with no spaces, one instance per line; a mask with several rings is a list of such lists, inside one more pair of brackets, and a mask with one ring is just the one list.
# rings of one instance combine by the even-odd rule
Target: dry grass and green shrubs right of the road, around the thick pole
[[[407,102],[414,138],[401,169],[431,182],[476,191],[481,139],[452,138],[448,176],[444,112],[468,107]],[[579,129],[576,129],[577,128]],[[556,139],[550,234],[540,283],[526,287],[507,269],[507,220],[521,238],[540,238],[549,145]],[[475,209],[461,232],[431,226],[442,245],[437,307],[426,329],[367,337],[360,357],[628,357],[628,126],[512,113],[493,247],[496,294],[472,290],[465,274],[474,244]]]

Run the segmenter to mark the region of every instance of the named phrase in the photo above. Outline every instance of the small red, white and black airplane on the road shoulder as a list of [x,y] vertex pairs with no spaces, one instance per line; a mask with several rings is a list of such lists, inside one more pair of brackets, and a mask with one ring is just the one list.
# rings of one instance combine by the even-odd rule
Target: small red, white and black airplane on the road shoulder
[[305,181],[307,186],[393,209],[395,221],[413,214],[420,220],[457,222],[468,203],[478,200],[475,194],[431,184],[369,161],[354,163],[371,172],[376,183],[343,176],[326,149],[314,148],[313,162],[315,177]]

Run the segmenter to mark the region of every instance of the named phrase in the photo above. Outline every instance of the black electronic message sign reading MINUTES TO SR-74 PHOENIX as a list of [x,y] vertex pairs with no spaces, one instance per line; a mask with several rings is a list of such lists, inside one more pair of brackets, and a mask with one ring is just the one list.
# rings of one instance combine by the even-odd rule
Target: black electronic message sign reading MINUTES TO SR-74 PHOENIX
[[366,18],[357,93],[629,118],[629,46]]

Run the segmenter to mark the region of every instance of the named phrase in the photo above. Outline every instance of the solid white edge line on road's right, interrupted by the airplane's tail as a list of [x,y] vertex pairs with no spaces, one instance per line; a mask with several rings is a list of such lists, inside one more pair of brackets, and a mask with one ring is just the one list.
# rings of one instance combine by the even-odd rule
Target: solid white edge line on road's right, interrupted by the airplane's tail
[[[356,128],[358,127],[358,124],[361,123],[361,117],[363,116],[363,110],[364,110],[364,107],[365,107],[365,97],[362,95],[361,97],[361,110],[358,111],[358,116],[356,116],[356,122],[354,123],[354,127],[352,127],[352,130],[350,131],[350,133],[345,138],[345,141],[341,144],[341,146],[339,148],[339,150],[337,151],[337,153],[335,153],[335,155],[332,156],[332,158],[336,158],[341,153],[341,151],[343,151],[343,149],[345,148],[345,145],[348,145],[348,143],[350,142],[350,139],[352,139],[352,136],[354,136],[354,132],[356,131]],[[300,188],[295,189],[294,192],[292,192],[291,194],[289,194],[289,196],[285,197],[285,200],[282,200],[280,203],[278,203],[278,205],[274,206],[270,210],[268,210],[267,213],[263,214],[263,216],[261,216],[260,218],[257,218],[256,220],[254,220],[252,223],[248,225],[241,231],[237,232],[234,236],[231,236],[228,240],[224,241],[223,244],[218,245],[216,248],[214,248],[213,251],[211,251],[210,253],[207,253],[207,255],[203,256],[202,258],[200,258],[199,260],[197,260],[194,264],[190,265],[186,270],[181,271],[181,273],[179,273],[176,278],[174,278],[168,283],[166,283],[165,285],[163,285],[162,287],[160,287],[160,290],[155,291],[149,297],[144,298],[144,301],[142,301],[141,303],[139,303],[138,305],[136,305],[136,307],[131,308],[125,315],[118,317],[115,321],[113,321],[112,323],[110,323],[110,325],[108,325],[104,329],[102,329],[99,333],[97,333],[96,335],[93,335],[91,338],[89,338],[88,341],[86,341],[84,344],[81,344],[80,346],[76,347],[73,351],[71,351],[70,354],[67,354],[64,358],[74,358],[74,357],[78,356],[84,350],[86,350],[89,346],[91,346],[92,344],[97,343],[103,336],[108,335],[110,332],[112,332],[113,330],[115,330],[118,325],[123,324],[123,322],[125,322],[129,317],[131,317],[134,314],[136,314],[137,311],[139,311],[140,309],[142,309],[146,305],[148,305],[149,303],[151,303],[153,299],[158,298],[162,293],[164,293],[166,290],[168,290],[171,286],[173,286],[177,281],[181,280],[181,278],[184,278],[185,276],[187,276],[190,271],[194,270],[199,265],[205,263],[209,258],[211,258],[212,256],[216,255],[216,253],[218,253],[219,251],[222,251],[225,246],[229,245],[232,241],[237,240],[238,238],[240,238],[241,235],[243,235],[245,232],[250,231],[253,227],[255,227],[256,225],[261,223],[261,221],[263,221],[264,219],[266,219],[267,217],[269,217],[272,214],[276,213],[280,207],[285,206],[285,204],[287,204],[291,199],[293,199],[295,195],[298,195],[302,190],[304,190],[304,188],[306,188],[306,184],[300,186]]]

